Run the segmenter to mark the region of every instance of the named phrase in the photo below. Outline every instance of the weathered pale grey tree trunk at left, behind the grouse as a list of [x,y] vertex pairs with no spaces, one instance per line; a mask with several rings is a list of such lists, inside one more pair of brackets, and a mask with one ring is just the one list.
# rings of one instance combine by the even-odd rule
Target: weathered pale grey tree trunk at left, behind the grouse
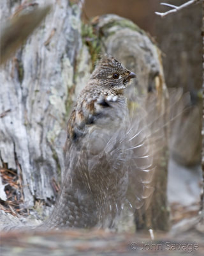
[[[63,165],[69,90],[82,49],[80,6],[50,2],[52,12],[0,72],[0,113],[10,109],[0,119],[0,165],[22,175],[27,207],[55,199],[52,183]],[[1,20],[20,3],[1,1]]]

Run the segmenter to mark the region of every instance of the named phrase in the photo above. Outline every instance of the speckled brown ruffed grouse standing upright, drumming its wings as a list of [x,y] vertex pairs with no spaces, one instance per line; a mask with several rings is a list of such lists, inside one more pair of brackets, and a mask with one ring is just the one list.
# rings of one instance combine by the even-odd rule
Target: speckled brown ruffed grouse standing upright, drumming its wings
[[44,227],[113,228],[124,204],[143,204],[152,159],[124,96],[134,77],[112,56],[96,65],[68,121],[61,193]]

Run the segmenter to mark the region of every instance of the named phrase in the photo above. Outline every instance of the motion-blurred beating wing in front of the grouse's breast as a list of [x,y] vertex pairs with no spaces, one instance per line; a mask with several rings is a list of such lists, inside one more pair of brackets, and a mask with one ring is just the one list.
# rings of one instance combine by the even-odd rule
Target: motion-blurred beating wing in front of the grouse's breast
[[[168,154],[171,154],[184,112],[191,108],[190,101],[189,93],[183,94],[180,89],[170,90],[163,104],[155,94],[135,99],[131,127],[126,132],[126,140],[130,142],[126,150],[131,151],[126,202],[131,211],[140,208],[145,211],[149,206],[154,193],[155,170],[161,164],[158,163],[159,156],[167,149]],[[132,102],[133,106],[135,102]],[[193,120],[193,117],[189,120]],[[189,120],[186,127],[189,127]]]

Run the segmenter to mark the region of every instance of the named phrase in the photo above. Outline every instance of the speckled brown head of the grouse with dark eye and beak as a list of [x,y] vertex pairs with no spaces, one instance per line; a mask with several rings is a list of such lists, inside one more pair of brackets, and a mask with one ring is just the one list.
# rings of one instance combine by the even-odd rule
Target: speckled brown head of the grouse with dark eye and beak
[[112,88],[114,91],[123,90],[131,78],[136,75],[124,67],[112,56],[105,54],[98,61],[91,79],[99,79],[102,86]]

